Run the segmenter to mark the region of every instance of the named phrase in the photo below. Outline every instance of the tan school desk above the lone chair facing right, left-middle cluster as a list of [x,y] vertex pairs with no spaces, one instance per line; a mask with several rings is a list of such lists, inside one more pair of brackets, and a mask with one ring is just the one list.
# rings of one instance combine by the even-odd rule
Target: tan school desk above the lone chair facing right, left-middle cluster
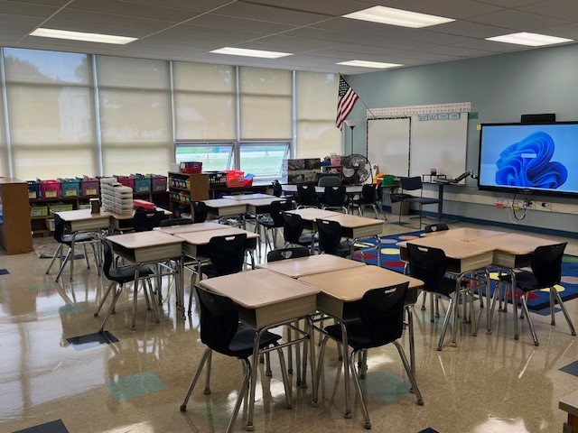
[[159,231],[126,233],[124,235],[111,235],[107,240],[112,244],[112,250],[123,259],[135,263],[135,296],[133,303],[133,324],[136,321],[136,290],[138,290],[138,268],[144,263],[161,263],[175,261],[177,291],[182,292],[182,243],[183,239],[167,235]]

